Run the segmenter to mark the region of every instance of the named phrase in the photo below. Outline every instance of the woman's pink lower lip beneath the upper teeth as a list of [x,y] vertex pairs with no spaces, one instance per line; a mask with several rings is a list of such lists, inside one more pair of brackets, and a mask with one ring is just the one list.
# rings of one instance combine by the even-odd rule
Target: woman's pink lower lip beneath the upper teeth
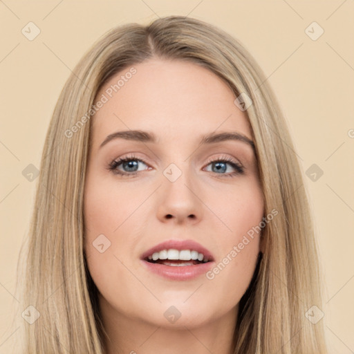
[[151,272],[160,275],[170,280],[189,280],[205,274],[211,267],[214,261],[209,261],[195,265],[164,265],[158,263],[150,263],[145,260],[141,260],[142,263]]

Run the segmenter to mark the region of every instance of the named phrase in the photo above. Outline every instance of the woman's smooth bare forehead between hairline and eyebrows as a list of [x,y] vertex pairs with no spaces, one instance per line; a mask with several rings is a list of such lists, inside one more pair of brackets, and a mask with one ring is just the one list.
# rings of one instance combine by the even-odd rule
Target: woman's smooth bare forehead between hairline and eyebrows
[[95,148],[109,134],[129,129],[152,131],[160,142],[188,143],[213,131],[252,138],[230,86],[192,62],[154,58],[135,64],[111,77],[96,102],[103,96],[106,102],[92,118]]

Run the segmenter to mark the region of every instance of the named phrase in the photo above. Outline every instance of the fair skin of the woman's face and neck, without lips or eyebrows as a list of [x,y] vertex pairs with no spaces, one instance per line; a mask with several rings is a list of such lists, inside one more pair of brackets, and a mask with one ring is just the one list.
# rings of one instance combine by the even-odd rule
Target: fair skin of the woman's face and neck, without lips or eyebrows
[[[165,279],[142,267],[140,255],[162,241],[192,239],[212,252],[214,268],[259,225],[264,205],[251,145],[199,145],[209,133],[252,140],[248,118],[230,87],[206,68],[158,58],[133,67],[136,74],[92,118],[85,181],[84,246],[110,339],[106,353],[229,354],[239,300],[263,250],[259,235],[213,279]],[[100,147],[110,134],[129,130],[149,131],[157,141],[118,138]],[[108,169],[131,153],[144,162],[133,158],[136,169],[124,163],[115,169],[136,176]],[[217,169],[224,158],[242,165],[243,174],[230,177],[237,170],[228,162]],[[174,182],[163,174],[171,163],[182,172]],[[93,247],[100,234],[111,241],[102,253]],[[171,306],[181,314],[174,323],[164,315]]]

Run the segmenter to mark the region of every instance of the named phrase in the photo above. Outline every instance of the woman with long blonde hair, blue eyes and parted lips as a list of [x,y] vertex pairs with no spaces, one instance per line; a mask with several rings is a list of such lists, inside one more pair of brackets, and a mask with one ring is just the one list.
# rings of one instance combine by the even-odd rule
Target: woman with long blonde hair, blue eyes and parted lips
[[25,252],[24,353],[326,353],[286,122],[252,56],[203,21],[114,28],[77,64]]

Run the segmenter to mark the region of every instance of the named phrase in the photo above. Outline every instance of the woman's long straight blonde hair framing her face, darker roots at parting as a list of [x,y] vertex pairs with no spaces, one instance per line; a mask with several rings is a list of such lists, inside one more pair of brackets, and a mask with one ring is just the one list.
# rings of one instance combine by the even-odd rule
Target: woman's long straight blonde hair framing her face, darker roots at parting
[[286,120],[261,68],[239,41],[180,16],[113,28],[88,50],[62,90],[41,158],[28,244],[21,248],[21,309],[31,305],[40,314],[33,324],[21,324],[21,353],[104,353],[97,288],[83,247],[87,112],[112,75],[149,57],[201,65],[225,80],[235,97],[246,93],[252,100],[245,113],[264,213],[277,209],[278,215],[263,228],[265,252],[240,302],[234,353],[327,353],[323,321],[313,324],[305,315],[313,305],[322,308],[321,282],[308,196]]

